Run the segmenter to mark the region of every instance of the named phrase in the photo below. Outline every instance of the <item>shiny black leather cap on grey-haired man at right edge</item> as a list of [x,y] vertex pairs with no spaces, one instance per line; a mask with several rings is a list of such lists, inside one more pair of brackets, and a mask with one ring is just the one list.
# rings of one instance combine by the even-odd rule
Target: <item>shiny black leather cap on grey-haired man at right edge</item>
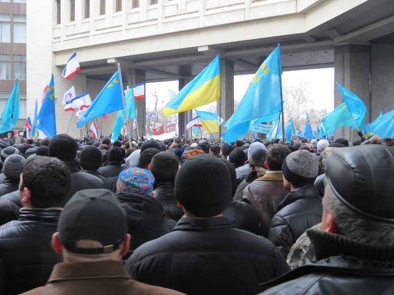
[[328,157],[325,173],[336,197],[351,210],[394,223],[393,147],[338,148]]

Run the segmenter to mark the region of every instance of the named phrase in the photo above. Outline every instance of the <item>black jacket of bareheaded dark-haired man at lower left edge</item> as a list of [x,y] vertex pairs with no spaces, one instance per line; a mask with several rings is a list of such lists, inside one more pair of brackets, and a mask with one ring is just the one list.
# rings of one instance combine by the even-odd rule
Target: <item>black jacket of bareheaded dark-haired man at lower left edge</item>
[[0,227],[0,294],[20,294],[45,285],[62,255],[51,248],[60,209],[22,209]]

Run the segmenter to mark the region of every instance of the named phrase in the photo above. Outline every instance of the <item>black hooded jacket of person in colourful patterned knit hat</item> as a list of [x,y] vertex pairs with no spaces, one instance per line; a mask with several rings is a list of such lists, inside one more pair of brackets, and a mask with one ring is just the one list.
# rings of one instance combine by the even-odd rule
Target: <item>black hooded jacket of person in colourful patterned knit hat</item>
[[116,193],[126,211],[130,250],[172,231],[176,222],[164,215],[163,206],[155,198],[137,193]]

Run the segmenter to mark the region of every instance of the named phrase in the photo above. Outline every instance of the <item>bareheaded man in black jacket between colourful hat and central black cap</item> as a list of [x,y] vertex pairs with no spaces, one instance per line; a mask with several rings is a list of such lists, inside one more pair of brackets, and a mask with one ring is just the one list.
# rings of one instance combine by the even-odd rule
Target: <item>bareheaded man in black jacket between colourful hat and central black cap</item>
[[175,198],[175,176],[179,169],[178,157],[170,151],[156,154],[151,162],[151,172],[155,177],[153,193],[163,205],[164,213],[175,221],[183,216],[183,209],[178,207]]

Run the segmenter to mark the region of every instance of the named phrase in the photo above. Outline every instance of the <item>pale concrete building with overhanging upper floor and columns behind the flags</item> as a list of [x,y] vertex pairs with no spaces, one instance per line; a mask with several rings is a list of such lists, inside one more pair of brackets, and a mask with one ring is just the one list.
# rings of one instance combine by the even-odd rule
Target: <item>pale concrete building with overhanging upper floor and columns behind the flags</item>
[[[361,97],[373,120],[394,109],[393,15],[394,0],[29,1],[27,112],[54,73],[58,133],[79,137],[77,118],[61,103],[71,86],[95,98],[120,62],[125,87],[178,80],[182,88],[220,54],[218,113],[227,120],[234,75],[255,73],[281,43],[284,71],[334,67],[335,79]],[[67,81],[61,73],[74,52],[81,71]],[[335,91],[335,106],[341,102]],[[145,101],[137,104],[144,130]],[[180,134],[190,116],[180,114]],[[99,118],[104,135],[116,113],[108,117]],[[350,139],[350,130],[336,136]]]

